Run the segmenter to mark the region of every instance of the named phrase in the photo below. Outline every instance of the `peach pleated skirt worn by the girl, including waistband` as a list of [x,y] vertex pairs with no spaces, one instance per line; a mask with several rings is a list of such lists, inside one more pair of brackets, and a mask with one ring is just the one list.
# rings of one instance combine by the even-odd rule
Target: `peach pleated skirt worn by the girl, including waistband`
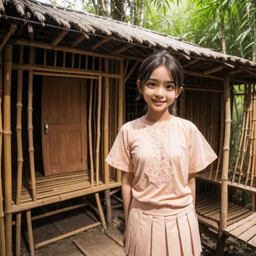
[[[161,211],[161,209],[160,209]],[[193,204],[178,214],[143,211],[131,206],[127,225],[127,256],[199,256],[201,241]],[[152,212],[150,212],[152,213]],[[165,213],[166,214],[166,213]]]

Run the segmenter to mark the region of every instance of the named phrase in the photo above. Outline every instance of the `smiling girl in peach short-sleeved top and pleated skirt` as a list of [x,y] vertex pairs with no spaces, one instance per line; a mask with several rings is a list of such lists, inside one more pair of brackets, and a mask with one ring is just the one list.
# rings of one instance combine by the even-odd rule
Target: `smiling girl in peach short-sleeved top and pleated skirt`
[[107,163],[122,170],[125,254],[199,256],[196,172],[217,156],[197,127],[176,117],[184,73],[166,51],[147,57],[137,80],[145,116],[120,129]]

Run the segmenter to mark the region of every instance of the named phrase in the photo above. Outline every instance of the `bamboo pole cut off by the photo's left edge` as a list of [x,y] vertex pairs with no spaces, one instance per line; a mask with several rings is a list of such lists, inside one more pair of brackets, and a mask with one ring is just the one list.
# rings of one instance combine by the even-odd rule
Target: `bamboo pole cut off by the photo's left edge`
[[2,190],[2,145],[3,145],[3,126],[2,126],[2,92],[3,92],[3,51],[0,50],[0,255],[5,256],[5,235],[4,235],[4,210],[3,210],[3,190]]

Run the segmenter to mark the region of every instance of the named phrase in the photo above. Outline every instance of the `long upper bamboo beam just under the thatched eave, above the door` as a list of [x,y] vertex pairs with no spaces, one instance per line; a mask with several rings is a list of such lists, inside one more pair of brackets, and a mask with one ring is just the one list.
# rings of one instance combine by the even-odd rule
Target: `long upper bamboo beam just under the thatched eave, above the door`
[[39,48],[43,48],[43,49],[54,49],[57,51],[73,52],[73,53],[84,54],[84,55],[89,55],[89,56],[118,59],[118,60],[123,59],[123,57],[112,56],[111,54],[108,54],[108,53],[93,52],[90,50],[71,48],[71,47],[64,46],[64,45],[56,45],[53,47],[49,43],[43,43],[43,42],[39,42],[39,41],[31,41],[31,40],[26,40],[26,39],[17,39],[16,42],[14,42],[14,43],[19,44],[19,45],[28,45],[28,46],[39,47]]

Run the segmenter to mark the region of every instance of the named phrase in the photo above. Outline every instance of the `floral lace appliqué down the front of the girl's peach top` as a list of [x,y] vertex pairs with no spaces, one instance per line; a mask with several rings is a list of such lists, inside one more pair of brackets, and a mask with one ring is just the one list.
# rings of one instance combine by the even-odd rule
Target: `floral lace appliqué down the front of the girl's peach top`
[[157,187],[161,187],[165,183],[169,183],[171,181],[173,174],[173,168],[170,166],[165,154],[165,137],[169,131],[169,126],[147,126],[147,130],[153,137],[154,153],[151,157],[150,164],[145,171],[145,175],[149,178],[150,182],[155,184]]

